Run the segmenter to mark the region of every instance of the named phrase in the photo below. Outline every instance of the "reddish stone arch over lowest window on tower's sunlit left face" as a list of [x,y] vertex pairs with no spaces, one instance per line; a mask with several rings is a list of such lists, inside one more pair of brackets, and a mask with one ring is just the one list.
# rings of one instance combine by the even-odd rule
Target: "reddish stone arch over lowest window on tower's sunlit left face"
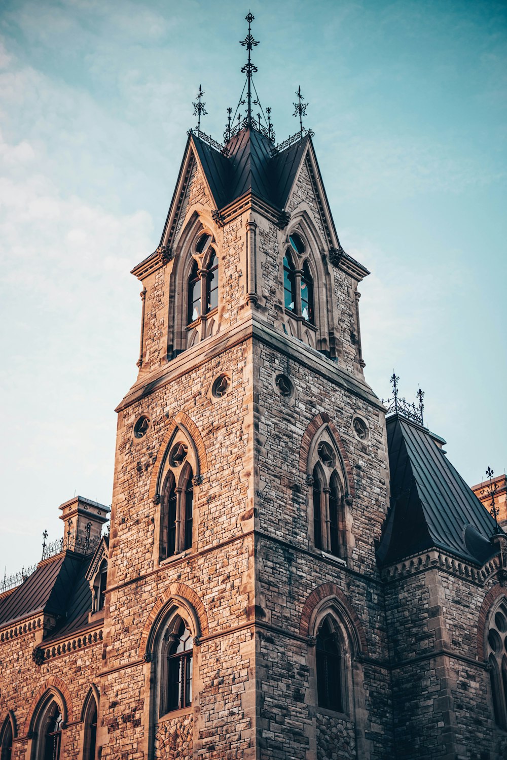
[[159,596],[146,619],[139,643],[140,654],[151,654],[159,626],[173,606],[181,606],[190,616],[194,623],[194,639],[209,633],[208,616],[203,601],[191,587],[175,583]]

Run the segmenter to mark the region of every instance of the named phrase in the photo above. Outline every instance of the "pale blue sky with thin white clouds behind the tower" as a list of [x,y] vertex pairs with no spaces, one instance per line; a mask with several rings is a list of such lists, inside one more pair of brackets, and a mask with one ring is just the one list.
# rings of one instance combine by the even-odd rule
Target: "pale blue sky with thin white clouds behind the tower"
[[367,382],[420,385],[469,484],[507,467],[505,2],[3,0],[0,575],[61,536],[65,500],[111,503],[129,273],[159,244],[200,84],[222,140],[249,10],[277,141],[301,85],[340,241],[371,271]]

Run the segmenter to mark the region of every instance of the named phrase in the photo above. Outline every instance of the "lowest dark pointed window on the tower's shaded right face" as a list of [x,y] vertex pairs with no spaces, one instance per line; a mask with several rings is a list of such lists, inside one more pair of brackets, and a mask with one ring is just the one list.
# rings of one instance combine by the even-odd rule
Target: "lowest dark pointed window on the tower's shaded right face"
[[342,649],[329,616],[317,632],[315,656],[319,706],[343,712]]

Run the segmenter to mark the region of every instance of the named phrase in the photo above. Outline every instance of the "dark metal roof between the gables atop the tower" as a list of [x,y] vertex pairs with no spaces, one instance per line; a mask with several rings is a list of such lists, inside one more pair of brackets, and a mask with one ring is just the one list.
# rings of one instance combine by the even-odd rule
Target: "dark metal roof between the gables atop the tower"
[[210,147],[197,135],[194,145],[217,208],[247,192],[282,209],[309,137],[272,156],[272,142],[256,129],[241,129],[228,141],[228,156]]

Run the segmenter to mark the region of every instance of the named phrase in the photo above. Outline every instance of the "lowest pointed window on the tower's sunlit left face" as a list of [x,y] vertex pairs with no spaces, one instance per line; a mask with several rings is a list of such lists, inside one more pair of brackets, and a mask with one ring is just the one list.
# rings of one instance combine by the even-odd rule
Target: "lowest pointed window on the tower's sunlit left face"
[[194,638],[181,616],[172,619],[162,645],[160,715],[192,704]]

